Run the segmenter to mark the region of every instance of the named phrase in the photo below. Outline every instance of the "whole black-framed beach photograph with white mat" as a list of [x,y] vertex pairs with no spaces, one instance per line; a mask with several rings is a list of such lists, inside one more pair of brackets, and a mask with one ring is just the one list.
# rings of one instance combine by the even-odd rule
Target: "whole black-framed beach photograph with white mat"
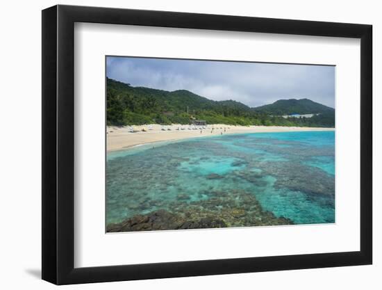
[[372,26],[42,11],[42,279],[372,264]]

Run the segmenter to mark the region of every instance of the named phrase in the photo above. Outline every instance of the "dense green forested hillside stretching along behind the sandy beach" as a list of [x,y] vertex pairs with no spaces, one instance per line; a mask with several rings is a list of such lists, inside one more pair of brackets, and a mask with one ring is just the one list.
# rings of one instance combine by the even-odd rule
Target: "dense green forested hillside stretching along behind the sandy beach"
[[[113,79],[107,79],[106,94],[108,125],[190,124],[192,118],[196,118],[206,120],[207,124],[334,127],[333,108],[309,111],[308,113],[320,113],[312,118],[283,118],[275,116],[281,114],[269,108],[267,111],[262,111],[258,110],[262,107],[249,108],[233,100],[217,102],[195,95],[188,90],[168,92],[133,87]],[[304,100],[317,104],[308,99]],[[317,105],[329,108],[321,104]],[[288,106],[284,107],[288,108]],[[292,111],[292,113],[299,112],[303,111]]]

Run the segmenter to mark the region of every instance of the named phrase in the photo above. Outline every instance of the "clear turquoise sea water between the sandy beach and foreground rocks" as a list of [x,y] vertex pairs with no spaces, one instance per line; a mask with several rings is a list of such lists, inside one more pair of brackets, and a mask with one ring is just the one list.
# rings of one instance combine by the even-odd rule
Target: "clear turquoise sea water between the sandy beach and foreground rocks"
[[334,144],[334,131],[306,131],[194,138],[109,153],[106,223],[196,206],[253,214],[238,202],[244,195],[294,224],[334,223]]

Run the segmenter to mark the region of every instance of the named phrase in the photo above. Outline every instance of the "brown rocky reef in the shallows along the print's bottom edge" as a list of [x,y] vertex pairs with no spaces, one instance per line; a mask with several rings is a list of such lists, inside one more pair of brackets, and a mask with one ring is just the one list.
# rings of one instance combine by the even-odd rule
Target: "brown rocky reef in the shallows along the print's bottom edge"
[[140,232],[160,229],[212,229],[259,225],[290,225],[292,220],[264,211],[254,195],[245,191],[210,193],[212,198],[196,202],[178,202],[168,209],[136,215],[122,223],[110,224],[107,232]]

